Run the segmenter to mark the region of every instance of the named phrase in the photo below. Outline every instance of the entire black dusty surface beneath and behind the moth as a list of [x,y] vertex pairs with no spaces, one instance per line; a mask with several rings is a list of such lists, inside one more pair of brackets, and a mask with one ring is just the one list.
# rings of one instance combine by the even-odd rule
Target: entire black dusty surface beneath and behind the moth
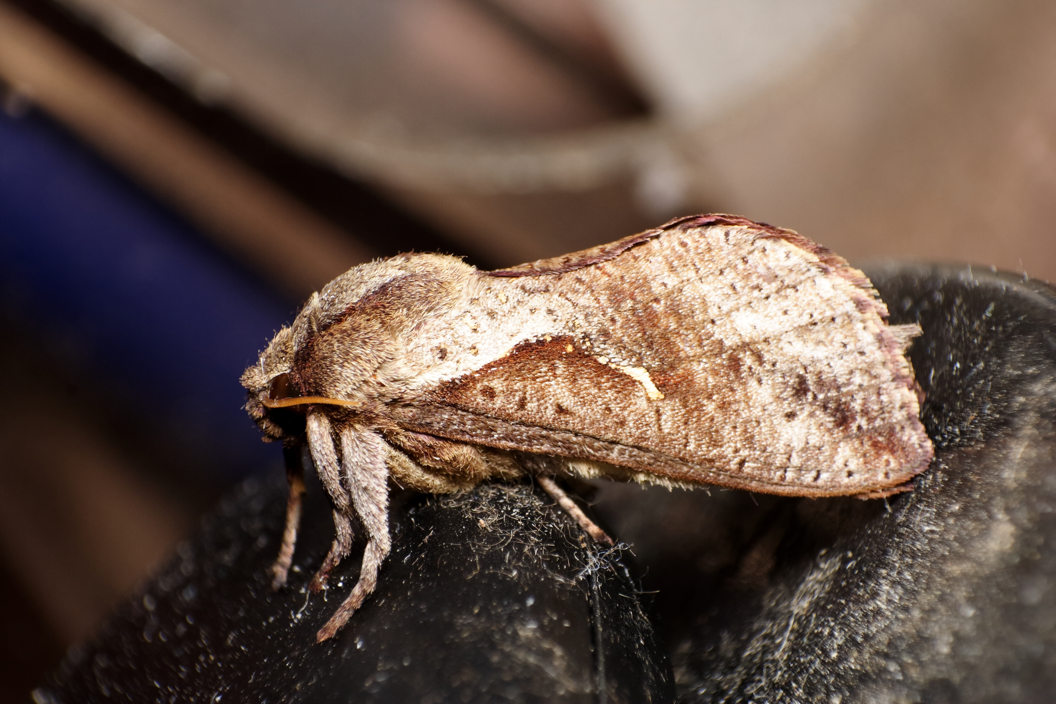
[[[602,489],[597,509],[634,543],[644,589],[658,590],[656,630],[681,701],[1054,700],[1056,293],[967,269],[869,273],[893,322],[924,329],[910,356],[938,454],[914,492],[862,501]],[[210,701],[222,688],[223,701],[305,702],[670,691],[619,563],[584,573],[597,556],[578,529],[521,484],[404,496],[378,594],[337,642],[314,645],[333,603],[297,590],[331,535],[321,492],[310,495],[293,589],[264,587],[281,487],[248,484],[151,585],[153,611],[137,596],[60,670],[55,701],[102,701],[100,687],[118,685],[135,701]],[[195,624],[178,634],[185,613]],[[598,682],[606,697],[588,692]]]

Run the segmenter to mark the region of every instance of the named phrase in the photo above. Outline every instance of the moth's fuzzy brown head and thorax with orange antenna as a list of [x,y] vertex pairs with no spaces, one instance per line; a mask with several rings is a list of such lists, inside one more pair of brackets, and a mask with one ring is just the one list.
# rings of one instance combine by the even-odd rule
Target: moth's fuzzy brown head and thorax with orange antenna
[[299,444],[305,412],[364,422],[369,406],[398,396],[420,370],[407,344],[473,271],[453,256],[403,254],[353,267],[313,293],[242,375],[246,411],[265,439]]

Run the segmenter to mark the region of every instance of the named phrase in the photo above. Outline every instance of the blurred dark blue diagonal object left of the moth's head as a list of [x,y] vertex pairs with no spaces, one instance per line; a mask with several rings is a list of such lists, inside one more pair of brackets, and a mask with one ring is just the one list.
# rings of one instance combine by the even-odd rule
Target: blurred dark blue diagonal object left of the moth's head
[[0,305],[215,480],[281,462],[238,379],[295,304],[35,110],[0,113]]

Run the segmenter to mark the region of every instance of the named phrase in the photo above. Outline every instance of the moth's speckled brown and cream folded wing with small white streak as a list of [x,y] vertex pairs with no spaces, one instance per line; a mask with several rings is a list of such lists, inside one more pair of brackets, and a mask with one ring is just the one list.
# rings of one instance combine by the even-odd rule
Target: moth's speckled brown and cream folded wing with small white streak
[[548,329],[403,404],[409,430],[807,496],[900,491],[931,459],[916,328],[795,232],[697,216],[475,275],[495,317]]

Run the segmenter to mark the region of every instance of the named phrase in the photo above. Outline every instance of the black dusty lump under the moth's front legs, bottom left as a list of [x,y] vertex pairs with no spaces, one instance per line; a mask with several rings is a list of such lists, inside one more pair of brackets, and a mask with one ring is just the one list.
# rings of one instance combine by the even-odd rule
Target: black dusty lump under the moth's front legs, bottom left
[[358,554],[325,597],[305,590],[333,536],[321,488],[312,481],[308,492],[285,589],[271,592],[266,573],[285,481],[245,483],[37,700],[673,700],[625,555],[584,547],[579,527],[527,483],[397,496],[377,591],[317,644],[355,582]]

